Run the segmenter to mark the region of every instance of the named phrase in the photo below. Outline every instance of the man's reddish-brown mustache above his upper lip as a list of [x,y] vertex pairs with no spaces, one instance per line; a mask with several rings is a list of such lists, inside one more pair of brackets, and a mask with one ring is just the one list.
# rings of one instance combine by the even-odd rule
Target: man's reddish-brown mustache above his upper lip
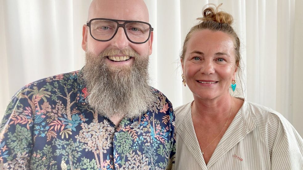
[[100,54],[99,57],[108,57],[113,55],[125,55],[130,57],[139,57],[140,55],[137,53],[137,51],[133,49],[104,49]]

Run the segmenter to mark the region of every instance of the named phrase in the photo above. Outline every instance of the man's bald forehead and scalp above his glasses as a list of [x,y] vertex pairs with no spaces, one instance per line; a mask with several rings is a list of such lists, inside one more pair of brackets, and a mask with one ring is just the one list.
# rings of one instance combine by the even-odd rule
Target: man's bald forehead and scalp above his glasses
[[88,10],[88,21],[93,18],[149,22],[143,0],[93,0]]

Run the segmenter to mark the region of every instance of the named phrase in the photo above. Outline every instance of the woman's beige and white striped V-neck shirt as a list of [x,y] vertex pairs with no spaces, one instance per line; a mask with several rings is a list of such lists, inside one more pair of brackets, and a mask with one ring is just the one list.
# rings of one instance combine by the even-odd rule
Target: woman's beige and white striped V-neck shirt
[[191,118],[191,103],[175,110],[179,170],[303,170],[303,140],[280,113],[244,100],[205,164]]

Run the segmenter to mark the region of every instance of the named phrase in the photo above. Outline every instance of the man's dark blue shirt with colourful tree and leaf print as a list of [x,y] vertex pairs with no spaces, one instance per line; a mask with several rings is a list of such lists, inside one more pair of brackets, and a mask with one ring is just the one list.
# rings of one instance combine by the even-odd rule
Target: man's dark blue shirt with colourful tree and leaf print
[[174,111],[151,90],[150,109],[115,126],[88,107],[81,70],[26,85],[0,125],[0,169],[173,169]]

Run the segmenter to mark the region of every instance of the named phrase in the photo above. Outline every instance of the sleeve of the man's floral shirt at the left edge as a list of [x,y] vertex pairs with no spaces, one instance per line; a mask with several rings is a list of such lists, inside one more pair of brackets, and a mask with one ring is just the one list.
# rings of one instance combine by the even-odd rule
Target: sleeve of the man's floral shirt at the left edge
[[3,169],[29,169],[35,101],[28,97],[27,90],[21,90],[12,98],[0,124],[0,167]]

